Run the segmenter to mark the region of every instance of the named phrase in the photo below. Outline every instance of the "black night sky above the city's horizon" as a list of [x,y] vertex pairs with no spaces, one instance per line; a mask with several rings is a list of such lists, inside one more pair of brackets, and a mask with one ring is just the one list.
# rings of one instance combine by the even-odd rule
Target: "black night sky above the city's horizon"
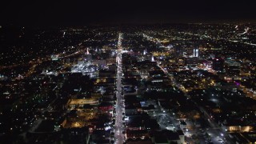
[[255,22],[253,1],[34,0],[1,4],[0,24],[66,26],[166,22]]

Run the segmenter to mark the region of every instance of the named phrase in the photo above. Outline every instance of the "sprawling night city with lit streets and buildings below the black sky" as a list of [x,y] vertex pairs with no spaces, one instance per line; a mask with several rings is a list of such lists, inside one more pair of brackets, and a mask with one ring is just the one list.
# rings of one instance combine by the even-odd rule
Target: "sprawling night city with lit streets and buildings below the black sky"
[[256,25],[0,36],[0,143],[256,142]]

